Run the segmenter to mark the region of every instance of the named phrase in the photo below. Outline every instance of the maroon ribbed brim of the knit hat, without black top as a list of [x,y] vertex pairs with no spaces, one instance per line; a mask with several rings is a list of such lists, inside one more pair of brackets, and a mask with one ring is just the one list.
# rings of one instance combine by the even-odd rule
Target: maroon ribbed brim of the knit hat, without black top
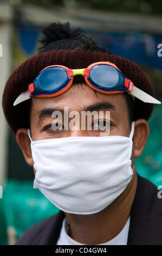
[[[139,66],[131,60],[116,56],[114,54],[101,53],[86,50],[54,50],[37,54],[21,64],[12,72],[3,93],[3,111],[11,130],[16,133],[20,127],[29,128],[29,100],[24,101],[15,107],[13,106],[16,98],[28,90],[28,84],[33,82],[38,73],[50,65],[64,65],[70,69],[87,68],[95,62],[112,62],[121,72],[126,75],[136,87],[154,97],[153,88]],[[85,83],[82,76],[74,77],[75,83]],[[150,118],[153,104],[144,103],[137,98],[134,101],[135,117],[134,120]]]

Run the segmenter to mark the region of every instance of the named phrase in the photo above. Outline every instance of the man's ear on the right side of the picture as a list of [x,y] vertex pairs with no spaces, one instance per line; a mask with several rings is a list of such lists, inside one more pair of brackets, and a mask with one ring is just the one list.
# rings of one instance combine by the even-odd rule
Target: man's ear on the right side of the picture
[[145,148],[150,129],[145,119],[138,119],[134,122],[133,147],[134,157],[142,154]]

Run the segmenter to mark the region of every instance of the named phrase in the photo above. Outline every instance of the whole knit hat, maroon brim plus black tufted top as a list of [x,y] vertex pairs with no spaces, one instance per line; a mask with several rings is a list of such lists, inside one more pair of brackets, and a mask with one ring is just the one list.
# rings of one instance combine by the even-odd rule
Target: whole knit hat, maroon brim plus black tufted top
[[[63,65],[70,69],[87,68],[95,62],[112,62],[126,75],[136,87],[154,97],[153,88],[144,72],[131,60],[117,56],[101,47],[82,29],[69,29],[69,23],[51,23],[43,29],[44,37],[40,40],[42,47],[38,54],[22,63],[8,78],[3,92],[3,111],[11,130],[29,128],[29,102],[31,99],[13,106],[14,101],[28,90],[38,73],[50,65]],[[85,83],[85,79],[77,75],[73,83]],[[144,103],[135,98],[134,120],[150,118],[152,103]]]

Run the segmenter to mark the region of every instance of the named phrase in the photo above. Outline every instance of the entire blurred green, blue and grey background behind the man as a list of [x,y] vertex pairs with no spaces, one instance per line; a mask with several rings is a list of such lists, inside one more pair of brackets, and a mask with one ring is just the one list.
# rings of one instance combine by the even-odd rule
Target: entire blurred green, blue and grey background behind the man
[[[4,47],[1,67],[8,69],[1,81],[1,97],[9,74],[37,53],[41,29],[51,22],[70,22],[82,27],[100,44],[120,56],[129,58],[145,71],[162,99],[161,1],[53,1],[23,0],[0,2],[0,44]],[[6,38],[6,39],[5,39]],[[3,42],[2,42],[3,41]],[[8,52],[8,54],[7,54]],[[162,53],[162,52],[161,52]],[[31,225],[59,211],[43,194],[33,189],[33,169],[25,163],[15,135],[9,130],[1,111],[1,184],[0,245],[12,245]],[[137,172],[162,184],[161,106],[155,106],[148,121],[150,137],[144,152],[135,160]]]

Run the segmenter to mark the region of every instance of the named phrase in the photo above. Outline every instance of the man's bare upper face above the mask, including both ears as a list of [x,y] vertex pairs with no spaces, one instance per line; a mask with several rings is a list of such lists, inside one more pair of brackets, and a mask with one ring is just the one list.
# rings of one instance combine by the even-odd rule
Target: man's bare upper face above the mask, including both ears
[[[106,118],[106,111],[109,111],[110,131],[109,135],[120,135],[129,137],[130,122],[128,117],[128,107],[125,96],[121,94],[106,95],[95,92],[87,84],[73,84],[63,94],[51,98],[33,98],[31,102],[30,113],[30,131],[33,141],[50,138],[63,138],[69,136],[102,136],[101,130],[93,129],[96,120],[92,115],[92,129],[82,130],[82,127],[76,125],[75,129],[64,129],[64,116],[58,120],[59,127],[62,130],[54,130],[52,124],[56,121],[53,113],[57,110],[59,113],[64,111],[64,107],[68,108],[68,113],[79,113],[81,117],[82,111],[93,111],[104,113],[103,118]],[[73,119],[70,116],[68,121]],[[81,122],[80,122],[81,123]],[[75,124],[74,124],[75,125]],[[87,128],[87,127],[86,127]],[[100,125],[99,125],[100,128]],[[103,131],[103,130],[102,130]],[[133,149],[132,149],[132,168],[134,166],[134,157],[139,157],[144,150],[149,135],[149,127],[145,119],[135,120]],[[105,136],[105,133],[104,135]],[[33,156],[31,154],[30,139],[28,130],[20,128],[16,133],[17,143],[20,145],[25,160],[30,166],[34,165]]]

